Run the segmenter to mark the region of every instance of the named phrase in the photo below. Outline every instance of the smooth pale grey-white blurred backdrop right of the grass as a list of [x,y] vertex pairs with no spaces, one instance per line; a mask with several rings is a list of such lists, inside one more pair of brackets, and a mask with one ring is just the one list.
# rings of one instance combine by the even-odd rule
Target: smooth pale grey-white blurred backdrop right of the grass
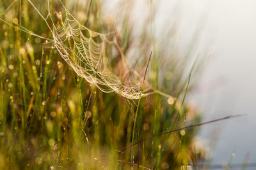
[[[170,6],[179,4],[175,10],[182,16],[181,44],[187,42],[186,37],[194,27],[204,27],[198,52],[211,42],[208,50],[211,57],[197,82],[198,87],[190,96],[201,108],[203,119],[247,115],[205,125],[198,138],[209,144],[212,132],[218,129],[218,141],[212,153],[214,164],[227,163],[235,148],[234,163],[242,163],[248,155],[248,162],[256,162],[256,2],[195,0],[163,3],[163,16],[168,15]],[[202,20],[204,22],[200,22]]]

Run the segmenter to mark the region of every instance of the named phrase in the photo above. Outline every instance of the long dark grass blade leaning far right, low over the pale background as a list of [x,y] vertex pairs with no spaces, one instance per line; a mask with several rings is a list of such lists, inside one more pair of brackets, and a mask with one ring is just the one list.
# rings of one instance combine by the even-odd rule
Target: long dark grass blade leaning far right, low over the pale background
[[210,120],[210,121],[207,121],[207,122],[203,122],[203,123],[200,123],[200,124],[194,124],[194,125],[188,125],[186,127],[180,127],[178,129],[174,129],[172,131],[167,131],[167,132],[163,132],[163,133],[160,133],[160,134],[157,134],[157,135],[154,135],[154,136],[148,136],[147,138],[145,139],[141,139],[140,141],[137,141],[136,143],[133,143],[132,145],[128,146],[127,148],[124,148],[123,150],[120,150],[118,151],[119,153],[121,152],[124,152],[125,150],[131,148],[132,146],[135,146],[137,145],[138,143],[141,143],[142,141],[146,141],[148,139],[152,139],[152,138],[156,138],[158,136],[163,136],[164,134],[171,134],[172,132],[177,132],[177,131],[180,131],[182,129],[189,129],[189,128],[192,128],[192,127],[198,127],[198,126],[201,126],[201,125],[205,125],[205,124],[211,124],[211,123],[214,123],[214,122],[219,122],[221,120],[226,120],[226,119],[229,119],[229,118],[236,118],[236,117],[242,117],[242,116],[245,116],[245,115],[231,115],[231,116],[227,116],[227,117],[223,117],[223,118],[217,118],[217,119],[214,119],[214,120]]

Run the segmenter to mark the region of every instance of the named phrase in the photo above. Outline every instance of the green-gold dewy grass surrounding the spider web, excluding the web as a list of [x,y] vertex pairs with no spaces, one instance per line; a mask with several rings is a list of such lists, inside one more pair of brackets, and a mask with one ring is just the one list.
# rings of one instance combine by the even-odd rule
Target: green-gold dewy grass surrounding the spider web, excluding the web
[[[11,3],[1,1],[0,13]],[[47,15],[44,1],[33,3]],[[74,2],[68,8],[75,16],[79,12],[89,16],[81,24],[93,31],[116,29],[117,25],[104,22],[102,1],[88,1],[87,5],[84,10]],[[60,11],[60,3],[56,1],[51,10]],[[200,122],[200,115],[185,99],[190,87],[189,60],[195,56],[188,51],[186,56],[177,58],[179,46],[172,38],[175,27],[166,31],[168,36],[157,39],[152,38],[154,28],[148,28],[153,24],[148,23],[139,36],[132,36],[132,13],[129,9],[120,11],[118,41],[125,55],[134,52],[138,56],[133,69],[141,77],[145,75],[154,88],[178,100],[168,104],[168,98],[159,94],[131,100],[101,92],[77,76],[55,48],[47,48],[45,39],[19,29],[17,24],[52,38],[28,1],[18,0],[0,16],[13,25],[16,22],[13,27],[0,21],[0,169],[180,169],[191,164],[191,155],[196,154],[191,153],[196,128],[186,129],[184,136],[177,131],[141,139],[184,127],[186,117],[186,124]],[[151,15],[154,17],[154,13]],[[161,45],[163,42],[165,46]],[[140,48],[134,48],[134,43],[140,43]],[[170,52],[168,46],[177,53]],[[151,50],[152,59],[148,62]],[[115,52],[111,59],[111,69],[118,72],[122,61]],[[191,79],[196,78],[196,70],[198,67]],[[164,77],[166,72],[173,77]],[[141,142],[124,150],[136,141]]]

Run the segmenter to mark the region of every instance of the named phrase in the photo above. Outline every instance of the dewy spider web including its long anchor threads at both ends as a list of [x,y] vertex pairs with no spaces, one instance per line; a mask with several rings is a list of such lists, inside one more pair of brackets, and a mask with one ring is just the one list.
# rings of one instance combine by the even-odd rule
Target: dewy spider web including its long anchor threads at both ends
[[[129,62],[127,62],[125,59],[121,47],[118,45],[118,43],[116,43],[115,32],[102,34],[92,31],[84,25],[79,24],[76,18],[71,15],[67,8],[65,8],[61,0],[60,3],[65,10],[66,16],[65,20],[63,21],[62,14],[56,13],[57,17],[61,20],[61,26],[57,27],[51,17],[49,0],[47,0],[48,15],[46,18],[40,13],[40,11],[37,10],[35,5],[30,0],[28,0],[28,2],[33,6],[33,8],[35,8],[40,17],[45,20],[52,33],[52,42],[54,43],[55,48],[58,50],[61,57],[67,62],[67,64],[74,69],[78,76],[85,78],[89,83],[93,83],[100,90],[102,90],[102,92],[116,92],[116,94],[127,99],[139,99],[142,78],[136,71],[127,68],[129,66]],[[10,8],[10,6],[8,8]],[[47,18],[51,19],[52,28],[49,26]],[[8,24],[2,18],[0,19]],[[19,27],[22,31],[29,32],[33,36],[38,36],[37,34],[22,27],[22,25],[19,25]],[[42,38],[42,36],[38,37]],[[111,51],[109,50],[109,46],[115,46],[116,50],[121,55],[125,72],[124,76],[127,76],[128,73],[133,73],[136,76],[135,80],[122,81],[109,69],[108,51]],[[110,52],[110,55],[111,53],[112,52]],[[150,90],[151,92],[147,92]],[[153,93],[158,93],[166,97],[172,97],[150,87],[149,84],[148,89],[145,89],[141,96],[147,96],[148,94]]]

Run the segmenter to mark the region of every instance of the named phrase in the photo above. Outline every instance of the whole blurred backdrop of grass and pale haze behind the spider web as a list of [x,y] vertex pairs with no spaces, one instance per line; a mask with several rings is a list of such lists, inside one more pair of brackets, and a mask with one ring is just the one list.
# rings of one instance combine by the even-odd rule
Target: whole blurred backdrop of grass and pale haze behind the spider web
[[[1,1],[0,14],[12,2]],[[29,1],[16,2],[0,17],[14,25],[21,22],[29,31],[51,39],[49,28]],[[33,1],[44,17],[45,2]],[[183,124],[184,115],[188,115],[188,125],[229,115],[246,116],[189,129],[183,141],[180,132],[148,140],[145,146],[143,143],[145,153],[136,146],[134,153],[120,154],[116,150],[133,142],[137,101],[102,93],[79,78],[51,43],[42,50],[45,40],[2,20],[0,167],[11,162],[12,169],[113,169],[120,159],[125,163],[120,168],[131,167],[129,161],[134,161],[156,169],[180,169],[191,164],[194,156],[198,156],[198,164],[205,161],[213,166],[231,160],[239,167],[256,162],[256,1],[64,2],[82,25],[93,31],[115,32],[131,69],[141,76],[152,51],[147,81],[166,94],[179,99],[186,96],[189,70],[199,54],[184,106],[159,94],[141,99],[137,140],[170,130],[175,113],[180,115],[175,128]],[[60,27],[63,6],[57,0],[51,3],[53,24]],[[119,54],[111,54],[111,71],[122,72]],[[15,140],[18,142],[13,143]],[[193,146],[195,151],[190,150]],[[113,164],[97,160],[101,156]]]

